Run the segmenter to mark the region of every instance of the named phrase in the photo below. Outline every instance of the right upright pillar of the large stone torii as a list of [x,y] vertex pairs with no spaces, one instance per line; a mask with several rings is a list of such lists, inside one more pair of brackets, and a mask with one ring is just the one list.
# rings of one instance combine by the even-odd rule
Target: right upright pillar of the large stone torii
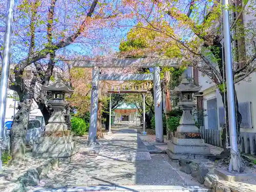
[[160,81],[160,67],[154,67],[154,102],[156,142],[163,142],[162,92]]

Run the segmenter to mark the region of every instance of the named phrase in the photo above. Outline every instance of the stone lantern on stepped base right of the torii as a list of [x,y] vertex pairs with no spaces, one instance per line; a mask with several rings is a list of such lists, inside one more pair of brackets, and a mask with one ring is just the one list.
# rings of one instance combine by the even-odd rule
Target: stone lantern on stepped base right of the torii
[[181,83],[173,90],[173,94],[180,96],[178,105],[183,113],[180,125],[172,136],[172,141],[168,143],[167,154],[172,159],[207,158],[210,155],[209,147],[201,139],[200,131],[195,126],[195,120],[191,115],[191,110],[196,105],[193,101],[193,94],[199,92],[200,89],[201,87],[188,80],[185,71],[182,74]]

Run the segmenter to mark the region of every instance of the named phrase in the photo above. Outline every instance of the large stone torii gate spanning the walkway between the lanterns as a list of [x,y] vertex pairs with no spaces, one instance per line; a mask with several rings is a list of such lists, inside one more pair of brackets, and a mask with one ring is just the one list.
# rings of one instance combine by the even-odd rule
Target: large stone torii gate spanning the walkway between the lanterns
[[[69,60],[72,62],[72,60]],[[174,59],[158,59],[148,62],[144,58],[139,59],[101,59],[100,61],[73,60],[72,66],[76,68],[93,68],[92,93],[90,108],[90,127],[88,145],[97,144],[97,111],[98,111],[98,88],[99,80],[153,80],[154,82],[154,103],[155,103],[155,127],[156,142],[163,142],[163,117],[162,117],[162,93],[160,81],[160,67],[178,67],[179,62]],[[99,74],[99,68],[153,68],[152,74]]]

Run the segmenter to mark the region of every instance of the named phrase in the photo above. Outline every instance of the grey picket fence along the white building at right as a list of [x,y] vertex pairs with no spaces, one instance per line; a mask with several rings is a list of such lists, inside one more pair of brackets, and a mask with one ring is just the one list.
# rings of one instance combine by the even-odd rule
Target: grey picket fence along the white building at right
[[[208,130],[201,126],[201,136],[205,143],[223,147],[222,145],[222,131]],[[241,152],[256,155],[256,133],[241,132]]]

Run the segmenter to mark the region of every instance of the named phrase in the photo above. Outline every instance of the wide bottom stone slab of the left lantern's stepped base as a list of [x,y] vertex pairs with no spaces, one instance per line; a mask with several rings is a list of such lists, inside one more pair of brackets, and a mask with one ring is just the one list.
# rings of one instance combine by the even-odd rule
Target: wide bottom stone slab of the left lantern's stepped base
[[65,153],[75,149],[76,142],[72,141],[70,143],[64,144],[33,144],[33,153]]

